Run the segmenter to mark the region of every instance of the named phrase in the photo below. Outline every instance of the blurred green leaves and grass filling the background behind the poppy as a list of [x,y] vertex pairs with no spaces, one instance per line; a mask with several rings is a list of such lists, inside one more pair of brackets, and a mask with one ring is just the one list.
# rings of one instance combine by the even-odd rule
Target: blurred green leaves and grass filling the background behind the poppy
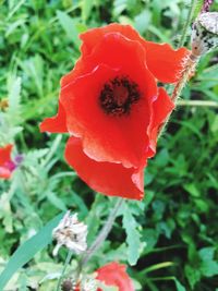
[[[38,130],[39,122],[56,112],[59,80],[80,56],[78,34],[120,22],[146,39],[177,47],[189,4],[0,1],[0,98],[10,104],[0,112],[0,144],[15,142],[15,151],[25,155],[11,182],[0,181],[0,270],[21,243],[60,211],[78,211],[92,230],[90,243],[114,205],[114,199],[93,193],[65,165],[64,137]],[[217,0],[211,10],[218,10]],[[120,260],[132,265],[129,272],[137,290],[217,290],[218,107],[189,105],[190,99],[218,102],[217,63],[217,51],[202,58],[182,94],[186,106],[173,113],[146,169],[144,202],[125,203],[87,271]],[[58,258],[51,251],[49,246],[38,253],[5,290],[55,290],[65,251]]]

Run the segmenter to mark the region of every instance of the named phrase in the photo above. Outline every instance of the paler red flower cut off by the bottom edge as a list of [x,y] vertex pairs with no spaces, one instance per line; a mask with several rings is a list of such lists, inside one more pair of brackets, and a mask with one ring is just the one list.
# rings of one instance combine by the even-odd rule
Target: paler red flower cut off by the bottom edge
[[119,291],[134,291],[133,282],[126,274],[126,266],[116,262],[99,268],[97,279],[107,286],[118,287]]

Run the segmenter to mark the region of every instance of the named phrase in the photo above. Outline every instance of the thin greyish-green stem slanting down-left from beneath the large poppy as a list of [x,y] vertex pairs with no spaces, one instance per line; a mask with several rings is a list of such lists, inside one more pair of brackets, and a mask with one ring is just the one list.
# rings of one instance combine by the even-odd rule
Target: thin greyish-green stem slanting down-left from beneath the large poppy
[[90,259],[93,254],[98,250],[98,247],[101,245],[101,243],[107,239],[109,232],[112,229],[117,214],[118,214],[119,209],[121,208],[121,206],[123,205],[123,203],[124,203],[123,198],[118,198],[116,206],[113,207],[113,209],[109,214],[108,219],[107,219],[105,226],[102,227],[102,229],[100,230],[98,237],[96,238],[94,243],[90,245],[90,247],[83,255],[82,260],[81,260],[80,266],[78,266],[80,272],[81,272],[83,266],[87,264],[87,262]]

